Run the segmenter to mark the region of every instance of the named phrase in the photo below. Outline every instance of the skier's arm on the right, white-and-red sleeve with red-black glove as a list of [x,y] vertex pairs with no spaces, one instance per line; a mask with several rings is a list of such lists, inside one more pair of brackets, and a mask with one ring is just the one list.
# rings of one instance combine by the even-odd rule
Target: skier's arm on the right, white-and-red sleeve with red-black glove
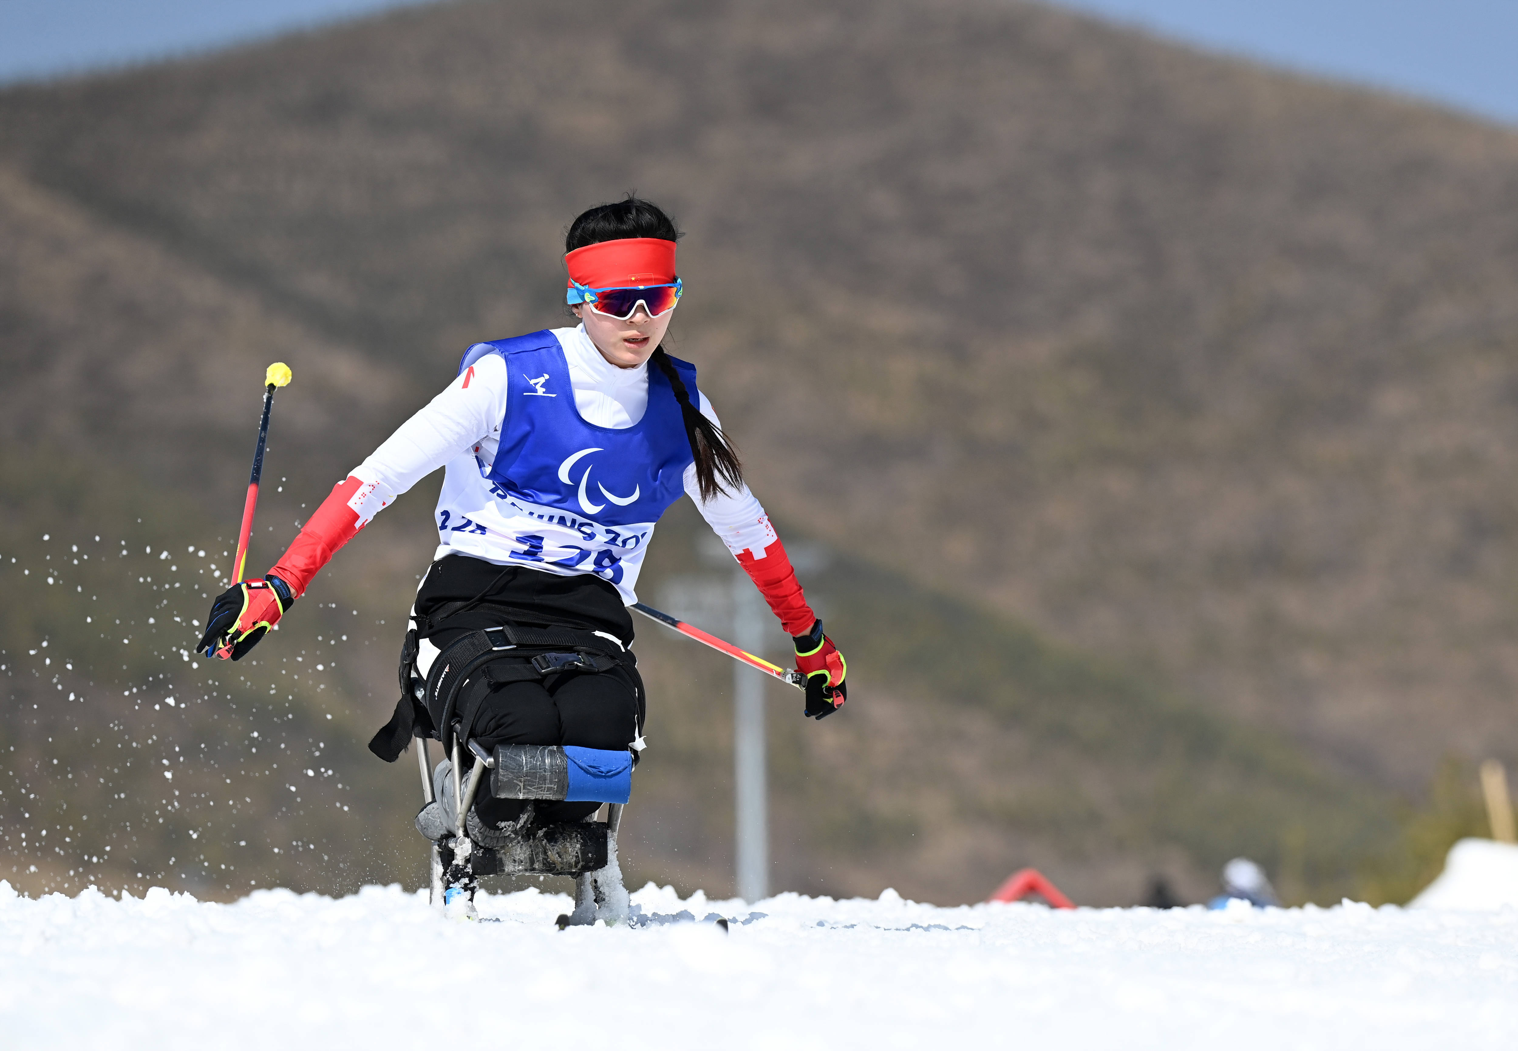
[[[701,395],[701,415],[721,427],[712,402]],[[770,603],[771,612],[780,618],[780,626],[795,642],[795,664],[806,673],[806,714],[814,718],[830,715],[847,696],[844,676],[847,664],[833,641],[823,633],[823,621],[806,604],[806,594],[795,579],[795,570],[785,553],[780,535],[770,524],[770,516],[748,491],[741,486],[735,492],[718,492],[710,500],[701,500],[695,481],[695,466],[685,471],[685,491],[695,501],[701,518],[712,527],[727,550],[738,559],[759,594]]]

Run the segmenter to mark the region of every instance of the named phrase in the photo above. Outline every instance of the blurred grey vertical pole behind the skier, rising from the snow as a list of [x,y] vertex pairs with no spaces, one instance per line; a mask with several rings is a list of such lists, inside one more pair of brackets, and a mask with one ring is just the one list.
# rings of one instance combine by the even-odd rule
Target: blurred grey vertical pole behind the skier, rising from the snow
[[[765,608],[753,580],[733,573],[733,641],[764,650]],[[736,808],[738,896],[756,902],[770,895],[768,772],[765,765],[762,676],[742,664],[733,665],[733,785]]]

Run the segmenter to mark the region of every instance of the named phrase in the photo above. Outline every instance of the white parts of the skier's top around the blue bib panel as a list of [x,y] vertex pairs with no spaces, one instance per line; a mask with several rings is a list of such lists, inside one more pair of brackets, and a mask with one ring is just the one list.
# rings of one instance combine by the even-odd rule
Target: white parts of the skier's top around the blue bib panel
[[[595,349],[584,327],[557,328],[559,339],[569,365],[569,381],[574,387],[574,402],[580,415],[591,424],[622,430],[636,425],[648,407],[648,365],[621,369]],[[427,407],[401,424],[380,448],[369,454],[351,472],[363,486],[349,501],[358,513],[360,527],[366,526],[384,506],[437,468],[446,468],[443,489],[437,501],[434,522],[439,526],[439,547],[434,557],[448,554],[471,554],[496,565],[528,565],[545,573],[574,576],[591,571],[594,562],[581,567],[554,565],[553,557],[536,562],[521,562],[521,515],[513,513],[509,501],[484,477],[495,462],[501,427],[509,412],[507,365],[499,354],[486,354],[448,387],[433,398]],[[712,404],[700,395],[701,415],[720,424]],[[747,486],[736,492],[720,492],[712,500],[701,500],[695,480],[695,466],[685,471],[685,491],[695,501],[701,516],[723,539],[735,556],[750,551],[751,557],[765,557],[765,548],[776,541],[774,527],[764,507]],[[469,522],[461,527],[460,521]],[[533,524],[539,535],[548,535]],[[583,529],[583,527],[581,527]],[[610,530],[607,530],[610,532]],[[627,604],[638,601],[635,585],[647,550],[647,536],[635,550],[616,550],[621,567],[619,579],[613,580]],[[575,542],[581,535],[571,533]],[[580,548],[574,548],[580,550]],[[516,559],[513,559],[513,553]],[[553,548],[550,547],[550,554]]]

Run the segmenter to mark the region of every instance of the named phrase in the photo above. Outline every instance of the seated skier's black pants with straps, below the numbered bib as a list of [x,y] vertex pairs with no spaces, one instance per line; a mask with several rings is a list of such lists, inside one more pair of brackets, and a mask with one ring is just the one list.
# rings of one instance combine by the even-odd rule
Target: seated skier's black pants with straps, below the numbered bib
[[[465,554],[434,562],[416,592],[416,612],[431,615],[451,601],[483,595],[481,606],[446,620],[431,636],[439,649],[460,635],[495,627],[502,620],[530,627],[574,627],[606,632],[624,645],[633,641],[633,621],[621,595],[606,580],[587,574],[562,577],[527,567],[498,567]],[[502,614],[501,611],[509,611]],[[471,738],[486,749],[496,744],[578,744],[587,749],[625,749],[644,724],[642,677],[631,653],[610,671],[568,671],[542,682],[493,685],[483,677],[465,686],[458,708],[468,709],[471,691],[483,691]],[[577,822],[600,803],[545,803],[539,800],[534,823]],[[521,799],[475,799],[475,813],[486,825],[515,822],[525,806]]]

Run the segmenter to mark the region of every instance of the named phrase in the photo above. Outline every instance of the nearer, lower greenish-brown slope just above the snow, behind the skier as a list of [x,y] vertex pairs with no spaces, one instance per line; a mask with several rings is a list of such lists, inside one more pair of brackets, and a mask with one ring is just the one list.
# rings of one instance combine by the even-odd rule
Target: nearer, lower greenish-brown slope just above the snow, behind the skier
[[[152,238],[14,173],[0,190],[8,346],[32,351],[14,357],[24,396],[0,456],[0,875],[30,890],[167,881],[200,896],[414,882],[410,770],[373,762],[363,741],[393,697],[386,618],[431,547],[427,495],[345,551],[287,621],[294,633],[231,667],[185,653],[226,565],[235,503],[205,497],[241,484],[257,363],[287,357],[298,383],[279,398],[255,557],[304,516],[329,447],[352,440],[345,427],[387,427],[414,392]],[[689,571],[698,530],[689,512],[665,524],[651,597]],[[187,554],[187,541],[209,551]],[[1128,902],[1157,870],[1202,896],[1220,858],[1248,852],[1280,861],[1292,893],[1331,899],[1384,838],[1368,793],[1146,683],[900,579],[855,568],[809,583],[853,638],[868,703],[818,734],[794,699],[774,699],[777,887],[967,901],[1032,863],[1081,901]],[[630,873],[715,892],[732,866],[730,668],[657,630],[639,653],[657,747],[628,820]],[[934,670],[943,653],[947,673]],[[1334,802],[1315,806],[1325,793]]]

